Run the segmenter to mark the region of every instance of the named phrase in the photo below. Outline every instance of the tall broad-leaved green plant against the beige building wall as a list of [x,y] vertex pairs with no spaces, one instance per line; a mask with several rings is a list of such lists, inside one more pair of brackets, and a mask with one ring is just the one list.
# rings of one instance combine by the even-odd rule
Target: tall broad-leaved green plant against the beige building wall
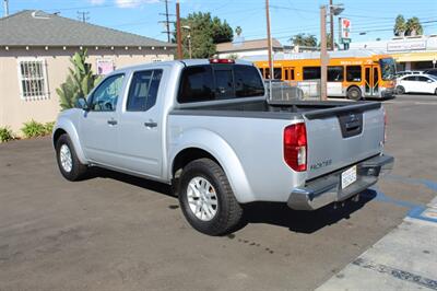
[[69,75],[60,88],[56,89],[62,109],[73,108],[79,97],[86,97],[101,78],[93,74],[91,63],[86,62],[86,49],[74,54],[70,59],[73,69],[69,68]]

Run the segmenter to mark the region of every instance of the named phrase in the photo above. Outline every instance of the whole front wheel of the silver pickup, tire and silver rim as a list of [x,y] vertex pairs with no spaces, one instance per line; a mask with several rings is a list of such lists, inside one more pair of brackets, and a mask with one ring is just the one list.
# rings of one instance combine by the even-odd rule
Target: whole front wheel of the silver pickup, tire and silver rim
[[59,171],[64,178],[78,181],[85,175],[87,166],[79,161],[73,143],[67,133],[60,136],[56,142],[56,158]]

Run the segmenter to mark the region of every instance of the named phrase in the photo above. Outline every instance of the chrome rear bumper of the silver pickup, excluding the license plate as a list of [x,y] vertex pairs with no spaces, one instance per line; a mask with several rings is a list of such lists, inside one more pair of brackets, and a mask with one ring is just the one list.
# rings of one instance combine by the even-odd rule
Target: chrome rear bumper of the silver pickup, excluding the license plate
[[380,175],[392,170],[393,163],[393,156],[378,155],[356,164],[356,182],[344,189],[341,188],[341,173],[344,170],[317,178],[304,187],[294,188],[287,205],[295,210],[316,210],[345,200],[377,183]]

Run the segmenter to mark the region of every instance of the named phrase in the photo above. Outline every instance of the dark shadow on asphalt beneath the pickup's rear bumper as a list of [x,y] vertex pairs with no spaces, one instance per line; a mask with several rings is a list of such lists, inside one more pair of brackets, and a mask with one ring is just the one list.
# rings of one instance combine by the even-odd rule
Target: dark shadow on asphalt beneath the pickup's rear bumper
[[327,225],[349,219],[376,195],[375,190],[367,189],[359,195],[359,201],[349,199],[344,206],[339,205],[334,208],[333,205],[329,205],[315,211],[292,210],[285,203],[253,202],[245,206],[245,221],[238,229],[250,223],[267,223],[287,228],[292,232],[314,233]]

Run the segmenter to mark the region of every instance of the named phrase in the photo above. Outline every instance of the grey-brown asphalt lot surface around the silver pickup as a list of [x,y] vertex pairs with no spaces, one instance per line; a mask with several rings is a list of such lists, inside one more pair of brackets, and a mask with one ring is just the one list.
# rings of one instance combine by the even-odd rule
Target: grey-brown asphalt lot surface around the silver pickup
[[224,237],[192,230],[165,185],[104,170],[71,183],[49,139],[0,144],[0,290],[314,290],[437,195],[437,97],[383,103],[395,165],[359,202],[250,205]]

